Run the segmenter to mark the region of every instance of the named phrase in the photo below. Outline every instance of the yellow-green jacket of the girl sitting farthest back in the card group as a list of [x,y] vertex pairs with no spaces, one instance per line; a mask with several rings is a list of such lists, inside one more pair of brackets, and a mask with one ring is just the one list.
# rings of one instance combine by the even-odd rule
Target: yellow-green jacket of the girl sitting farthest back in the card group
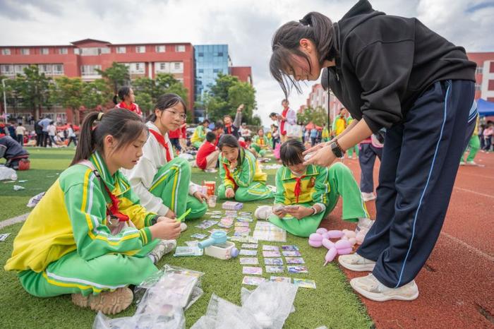
[[240,167],[237,166],[229,171],[231,179],[227,177],[227,169],[225,169],[225,166],[230,167],[230,162],[223,156],[219,157],[219,177],[224,182],[225,189],[235,189],[235,186],[248,187],[253,181],[265,183],[267,179],[267,174],[260,169],[254,155],[248,150],[240,150],[240,152],[244,152],[245,156]]

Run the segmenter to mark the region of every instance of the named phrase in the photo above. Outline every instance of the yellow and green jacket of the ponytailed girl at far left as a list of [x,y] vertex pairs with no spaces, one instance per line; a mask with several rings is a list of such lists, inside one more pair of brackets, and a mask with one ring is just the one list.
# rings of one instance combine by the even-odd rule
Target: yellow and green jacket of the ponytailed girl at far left
[[[5,270],[39,273],[76,249],[85,260],[107,253],[131,256],[152,241],[148,226],[156,214],[140,205],[121,172],[109,174],[98,152],[89,160],[100,179],[83,164],[74,164],[62,172],[20,229]],[[107,206],[112,202],[103,184],[119,199],[119,211],[128,215],[135,227],[116,235],[110,233]]]

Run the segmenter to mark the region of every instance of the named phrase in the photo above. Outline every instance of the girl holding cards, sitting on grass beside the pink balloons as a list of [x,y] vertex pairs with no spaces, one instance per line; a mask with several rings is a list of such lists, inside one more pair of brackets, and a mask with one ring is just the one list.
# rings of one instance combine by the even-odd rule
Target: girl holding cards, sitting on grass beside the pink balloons
[[[284,167],[276,174],[275,206],[272,210],[270,206],[261,206],[255,211],[255,217],[268,219],[296,236],[308,237],[342,196],[343,220],[370,227],[372,221],[368,219],[359,185],[350,169],[341,162],[330,168],[304,165],[304,150],[299,140],[291,139],[282,144],[280,156]],[[287,205],[295,207],[287,208]]]

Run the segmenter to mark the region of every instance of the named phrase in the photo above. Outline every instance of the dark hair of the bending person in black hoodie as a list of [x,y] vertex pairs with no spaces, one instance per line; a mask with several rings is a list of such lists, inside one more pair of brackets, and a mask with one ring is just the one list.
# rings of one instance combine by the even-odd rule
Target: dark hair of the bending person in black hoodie
[[336,56],[335,32],[332,21],[322,13],[312,11],[298,22],[292,20],[278,28],[271,43],[270,71],[287,98],[292,86],[301,93],[299,83],[290,76],[294,72],[291,56],[301,56],[306,59],[309,69],[312,68],[308,56],[299,50],[301,39],[309,39],[314,42],[320,65],[325,60],[335,59]]

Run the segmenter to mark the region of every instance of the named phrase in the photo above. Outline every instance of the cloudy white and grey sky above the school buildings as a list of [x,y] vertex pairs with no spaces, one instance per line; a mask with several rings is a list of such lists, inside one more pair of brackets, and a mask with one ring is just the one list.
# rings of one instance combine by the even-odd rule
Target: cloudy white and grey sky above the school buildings
[[[22,2],[22,3],[21,3]],[[385,13],[417,17],[467,52],[494,52],[494,1],[373,0]],[[309,11],[342,18],[356,0],[0,0],[0,45],[68,44],[92,38],[112,43],[229,44],[234,66],[252,66],[258,114],[280,109],[283,94],[270,77],[275,30]],[[8,31],[8,32],[7,32]],[[290,96],[291,107],[305,103]]]

